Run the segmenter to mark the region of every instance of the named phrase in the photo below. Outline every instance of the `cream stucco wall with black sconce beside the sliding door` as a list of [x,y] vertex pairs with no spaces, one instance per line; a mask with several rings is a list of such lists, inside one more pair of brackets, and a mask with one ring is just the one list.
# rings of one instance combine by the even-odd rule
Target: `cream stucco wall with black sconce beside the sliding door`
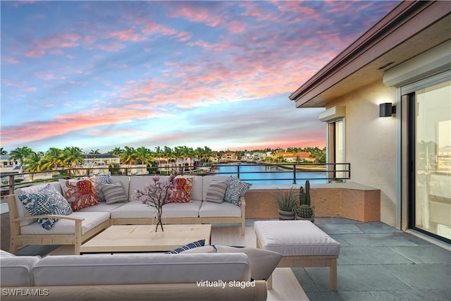
[[381,221],[396,224],[396,118],[379,117],[379,104],[396,102],[396,89],[373,82],[330,104],[346,106],[345,156],[350,181],[381,190]]

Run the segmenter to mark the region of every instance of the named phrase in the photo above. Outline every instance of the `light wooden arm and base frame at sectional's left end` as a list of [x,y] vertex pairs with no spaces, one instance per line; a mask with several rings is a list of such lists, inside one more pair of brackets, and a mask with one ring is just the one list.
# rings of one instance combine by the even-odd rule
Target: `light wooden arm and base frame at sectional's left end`
[[[14,195],[7,195],[5,197],[9,208],[9,222],[11,225],[11,244],[9,252],[16,254],[19,247],[25,247],[26,245],[74,245],[74,254],[80,254],[80,247],[83,242],[89,240],[97,233],[104,231],[111,224],[110,220],[100,223],[98,226],[82,234],[82,221],[83,218],[76,216],[64,216],[64,215],[39,215],[39,216],[18,216],[18,209],[16,206],[16,197]],[[44,218],[56,218],[67,219],[74,221],[75,233],[73,234],[33,234],[25,235],[20,233],[20,221],[26,221],[29,219],[44,219]]]

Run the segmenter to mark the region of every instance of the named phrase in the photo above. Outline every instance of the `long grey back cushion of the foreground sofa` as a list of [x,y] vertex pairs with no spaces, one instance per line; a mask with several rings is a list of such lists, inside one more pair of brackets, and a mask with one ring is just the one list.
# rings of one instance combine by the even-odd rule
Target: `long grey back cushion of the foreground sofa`
[[241,253],[47,256],[33,269],[39,286],[249,281],[249,271]]

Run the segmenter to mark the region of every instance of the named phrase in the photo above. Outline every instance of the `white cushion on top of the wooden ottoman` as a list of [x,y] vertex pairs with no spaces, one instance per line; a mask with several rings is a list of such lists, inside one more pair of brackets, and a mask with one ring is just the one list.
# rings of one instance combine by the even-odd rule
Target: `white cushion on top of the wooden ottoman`
[[340,244],[311,221],[255,221],[254,229],[265,250],[284,256],[340,254]]

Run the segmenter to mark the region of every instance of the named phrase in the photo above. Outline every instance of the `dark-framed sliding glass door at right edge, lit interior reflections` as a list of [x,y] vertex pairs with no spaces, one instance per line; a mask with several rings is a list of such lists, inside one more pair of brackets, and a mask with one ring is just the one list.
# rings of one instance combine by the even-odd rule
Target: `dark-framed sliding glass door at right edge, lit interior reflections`
[[407,95],[410,227],[451,241],[451,82]]

